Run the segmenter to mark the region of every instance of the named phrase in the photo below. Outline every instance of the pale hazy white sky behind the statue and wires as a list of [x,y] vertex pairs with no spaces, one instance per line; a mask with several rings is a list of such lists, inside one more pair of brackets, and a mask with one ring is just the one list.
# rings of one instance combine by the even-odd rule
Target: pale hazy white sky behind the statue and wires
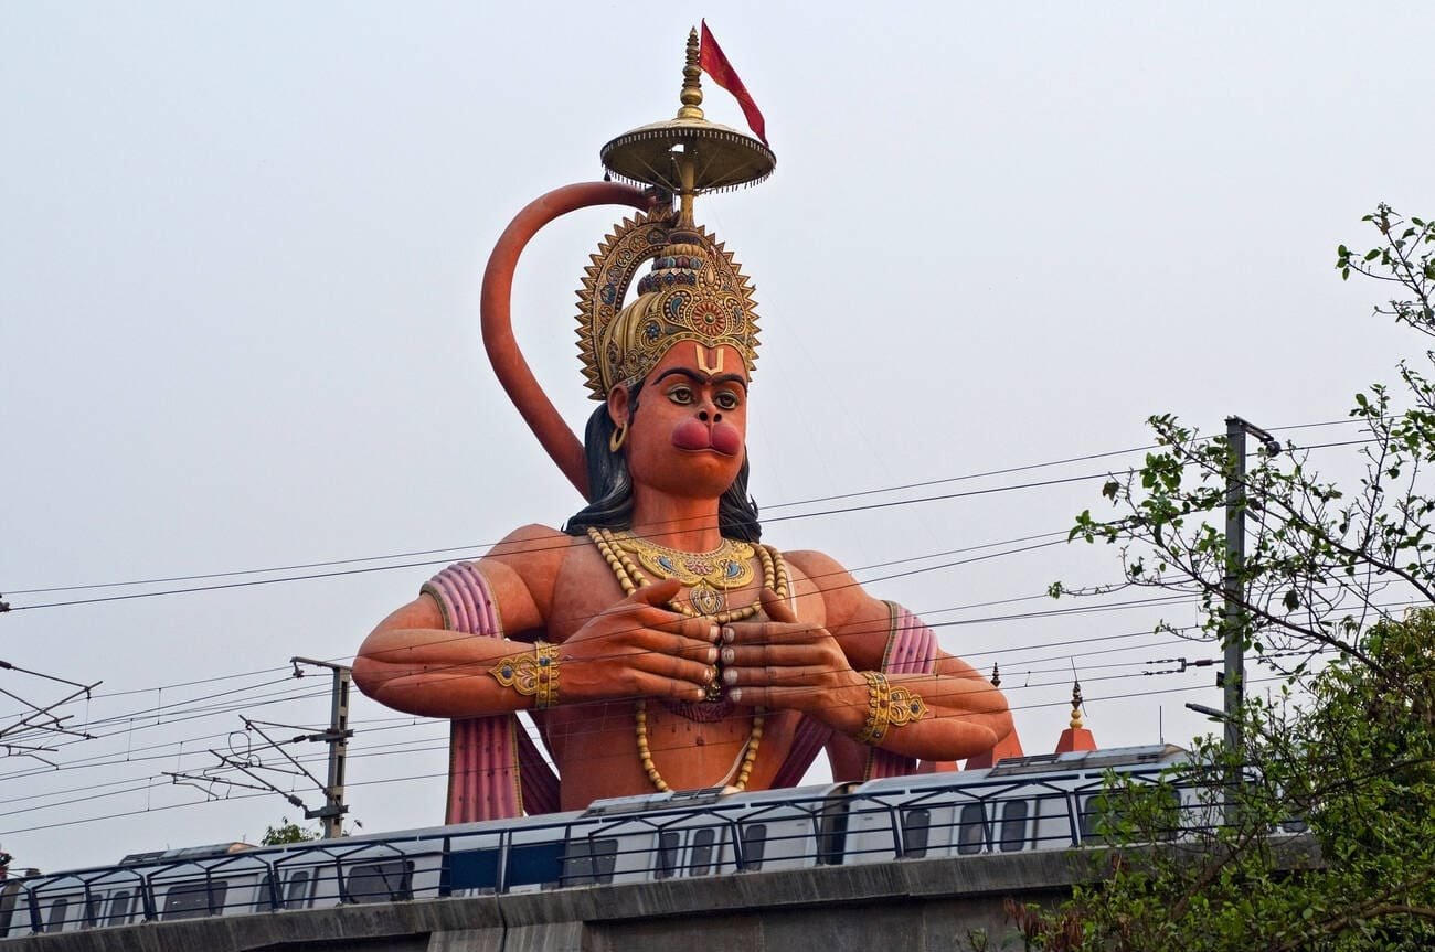
[[[763,186],[697,205],[758,285],[751,454],[772,516],[1138,447],[1158,411],[1207,432],[1230,413],[1337,420],[1424,346],[1369,318],[1380,290],[1332,264],[1368,241],[1375,202],[1435,211],[1426,4],[519,6],[0,6],[0,591],[24,609],[0,617],[0,660],[103,681],[62,708],[96,740],[24,741],[55,747],[57,770],[0,757],[19,866],[255,842],[296,819],[277,796],[205,803],[162,771],[212,764],[240,713],[326,721],[327,678],[284,681],[290,655],[350,658],[433,568],[63,608],[30,606],[146,589],[24,589],[456,558],[578,508],[491,379],[478,282],[519,208],[598,178],[607,139],[676,110],[699,14],[778,153]],[[743,125],[710,85],[705,108]],[[618,214],[552,227],[518,272],[519,340],[575,427],[591,404],[573,292]],[[771,522],[768,541],[864,569],[1066,529],[1098,487]],[[943,644],[1002,660],[1029,753],[1065,725],[1072,664],[1104,744],[1154,741],[1158,721],[1168,740],[1207,730],[1182,704],[1220,704],[1210,668],[1137,674],[1217,649],[1066,644],[1158,612],[938,611],[1115,575],[1109,551],[1046,548],[871,591],[933,622],[989,619],[940,628]],[[237,710],[189,717],[238,688]],[[306,697],[263,703],[290,688]],[[1174,688],[1203,690],[1147,694]],[[63,695],[14,671],[0,690]],[[0,697],[0,730],[23,710]],[[352,816],[439,822],[445,727],[364,700],[353,718]]]

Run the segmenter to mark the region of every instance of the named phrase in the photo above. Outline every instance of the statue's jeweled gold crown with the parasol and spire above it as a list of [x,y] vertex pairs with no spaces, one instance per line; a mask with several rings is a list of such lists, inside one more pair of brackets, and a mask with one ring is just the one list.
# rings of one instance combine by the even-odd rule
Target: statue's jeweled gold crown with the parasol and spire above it
[[[697,30],[687,37],[677,116],[626,132],[600,156],[614,178],[659,189],[677,208],[660,205],[626,219],[598,247],[578,290],[578,351],[594,400],[640,381],[667,350],[684,340],[733,347],[751,374],[758,357],[752,284],[732,252],[693,222],[693,199],[763,181],[776,158],[758,139],[707,122],[699,85]],[[633,278],[637,298],[623,307]]]

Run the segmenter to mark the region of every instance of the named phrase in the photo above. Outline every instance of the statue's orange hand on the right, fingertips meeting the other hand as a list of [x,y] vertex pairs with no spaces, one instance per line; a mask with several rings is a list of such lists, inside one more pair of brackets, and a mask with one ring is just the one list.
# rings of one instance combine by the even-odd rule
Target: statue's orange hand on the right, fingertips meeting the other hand
[[[824,721],[865,704],[867,688],[832,634],[798,621],[786,601],[762,592],[768,621],[723,628],[722,664],[728,697],[742,704],[806,711]],[[851,695],[851,697],[850,697]]]

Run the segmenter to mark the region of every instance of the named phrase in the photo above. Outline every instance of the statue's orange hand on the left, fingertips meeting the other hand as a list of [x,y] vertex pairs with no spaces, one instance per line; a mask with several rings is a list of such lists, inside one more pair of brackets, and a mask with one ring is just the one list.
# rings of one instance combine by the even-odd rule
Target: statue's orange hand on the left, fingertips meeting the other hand
[[564,703],[707,697],[720,632],[710,619],[667,608],[680,589],[672,579],[640,588],[564,641]]

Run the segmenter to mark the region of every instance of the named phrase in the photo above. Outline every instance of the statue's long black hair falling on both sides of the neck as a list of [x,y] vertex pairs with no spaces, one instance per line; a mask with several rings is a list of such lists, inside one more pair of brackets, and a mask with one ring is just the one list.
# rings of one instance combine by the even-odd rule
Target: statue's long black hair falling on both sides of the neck
[[[637,413],[637,396],[643,390],[639,383],[629,391],[630,413]],[[608,440],[617,432],[608,407],[604,403],[588,417],[583,433],[583,453],[588,466],[587,506],[580,509],[563,526],[568,535],[584,535],[588,528],[631,529],[633,528],[633,476],[629,473],[627,456],[608,449]],[[762,523],[758,522],[758,503],[748,496],[748,452],[743,447],[742,467],[738,477],[718,499],[718,529],[725,539],[739,542],[761,542]]]

